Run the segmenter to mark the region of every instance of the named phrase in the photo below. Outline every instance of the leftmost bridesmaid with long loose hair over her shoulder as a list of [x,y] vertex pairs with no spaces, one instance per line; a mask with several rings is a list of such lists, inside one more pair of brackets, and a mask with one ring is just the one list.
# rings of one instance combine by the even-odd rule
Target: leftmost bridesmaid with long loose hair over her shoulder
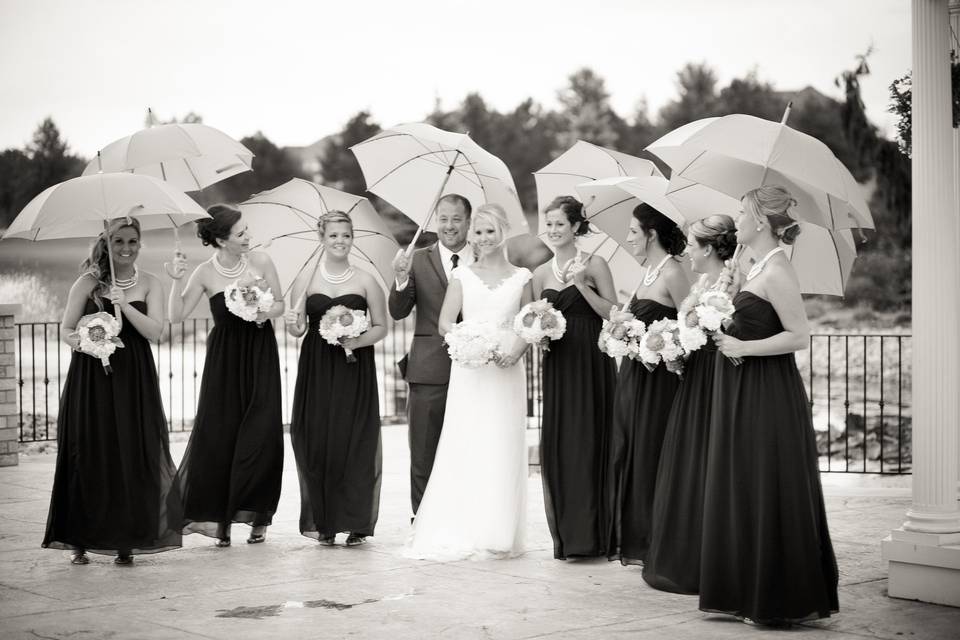
[[[60,398],[43,547],[72,550],[73,564],[87,564],[87,551],[130,564],[134,554],[167,551],[181,542],[176,468],[150,350],[163,330],[163,287],[137,269],[140,223],[120,218],[108,231],[81,265],[60,324],[74,353]],[[122,313],[124,346],[110,356],[108,374],[99,358],[79,350],[75,330],[81,316],[112,315],[115,308]]]

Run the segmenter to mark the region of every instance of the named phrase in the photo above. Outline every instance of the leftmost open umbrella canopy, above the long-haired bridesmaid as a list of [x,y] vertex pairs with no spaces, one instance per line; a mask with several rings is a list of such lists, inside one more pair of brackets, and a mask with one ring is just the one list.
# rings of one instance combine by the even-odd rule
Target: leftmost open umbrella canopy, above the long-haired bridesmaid
[[35,197],[4,238],[95,237],[113,218],[136,217],[140,228],[169,229],[209,215],[190,196],[150,176],[102,173],[56,184]]

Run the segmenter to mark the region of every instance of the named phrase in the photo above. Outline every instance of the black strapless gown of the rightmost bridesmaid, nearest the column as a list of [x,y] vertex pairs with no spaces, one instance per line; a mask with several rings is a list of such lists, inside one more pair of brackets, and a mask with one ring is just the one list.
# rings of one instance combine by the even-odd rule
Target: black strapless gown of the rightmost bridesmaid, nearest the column
[[[741,291],[728,333],[783,331],[773,305]],[[807,393],[794,354],[718,358],[710,420],[700,608],[757,622],[824,618],[838,610]]]

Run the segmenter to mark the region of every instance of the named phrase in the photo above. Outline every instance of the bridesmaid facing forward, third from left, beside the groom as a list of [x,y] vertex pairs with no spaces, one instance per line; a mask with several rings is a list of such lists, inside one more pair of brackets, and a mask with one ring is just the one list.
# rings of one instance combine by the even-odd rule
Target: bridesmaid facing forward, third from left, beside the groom
[[[380,508],[380,405],[373,345],[387,334],[386,300],[372,275],[350,265],[350,217],[331,211],[318,226],[323,259],[309,279],[294,286],[292,299],[301,302],[286,315],[290,335],[307,332],[290,423],[300,477],[300,533],[332,545],[336,534],[346,532],[347,546],[354,546],[373,535]],[[320,336],[320,319],[334,305],[369,311],[370,328],[343,341],[356,362],[347,362],[343,347]]]

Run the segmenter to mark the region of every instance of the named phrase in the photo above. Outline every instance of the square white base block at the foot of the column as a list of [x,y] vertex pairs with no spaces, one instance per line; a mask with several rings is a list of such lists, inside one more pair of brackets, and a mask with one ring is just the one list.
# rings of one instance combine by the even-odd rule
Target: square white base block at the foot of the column
[[897,529],[882,543],[891,598],[960,607],[960,534]]

